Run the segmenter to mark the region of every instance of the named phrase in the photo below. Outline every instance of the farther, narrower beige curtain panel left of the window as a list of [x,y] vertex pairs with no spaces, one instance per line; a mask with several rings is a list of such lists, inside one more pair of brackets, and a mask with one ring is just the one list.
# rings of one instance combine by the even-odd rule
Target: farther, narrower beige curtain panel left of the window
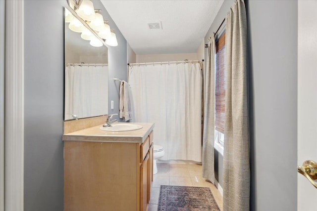
[[204,73],[203,177],[214,184],[214,34],[208,42],[207,68]]

